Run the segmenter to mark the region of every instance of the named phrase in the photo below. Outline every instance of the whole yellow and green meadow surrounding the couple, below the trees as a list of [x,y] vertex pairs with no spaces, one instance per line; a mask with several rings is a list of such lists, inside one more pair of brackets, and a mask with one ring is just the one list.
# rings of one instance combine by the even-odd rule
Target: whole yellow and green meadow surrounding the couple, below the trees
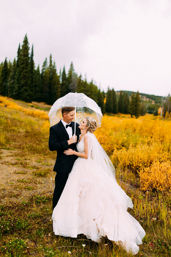
[[[131,256],[107,238],[53,234],[49,108],[0,97],[0,256]],[[136,256],[171,256],[170,134],[171,120],[153,115],[104,115],[95,132],[146,231]]]

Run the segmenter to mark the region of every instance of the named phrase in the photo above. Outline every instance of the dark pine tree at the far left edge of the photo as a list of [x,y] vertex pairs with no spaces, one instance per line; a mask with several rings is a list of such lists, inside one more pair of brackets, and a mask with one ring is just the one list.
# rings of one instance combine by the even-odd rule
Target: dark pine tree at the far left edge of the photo
[[8,89],[7,82],[8,82],[8,62],[6,57],[1,70],[0,95],[6,96],[6,91]]

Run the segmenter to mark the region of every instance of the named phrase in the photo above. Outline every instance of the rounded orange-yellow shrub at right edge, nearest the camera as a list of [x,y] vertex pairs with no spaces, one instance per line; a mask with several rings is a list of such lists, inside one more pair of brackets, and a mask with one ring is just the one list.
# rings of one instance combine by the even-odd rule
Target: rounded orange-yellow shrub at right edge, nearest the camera
[[139,172],[142,190],[158,189],[160,191],[171,189],[171,164],[167,162],[154,162],[150,167]]

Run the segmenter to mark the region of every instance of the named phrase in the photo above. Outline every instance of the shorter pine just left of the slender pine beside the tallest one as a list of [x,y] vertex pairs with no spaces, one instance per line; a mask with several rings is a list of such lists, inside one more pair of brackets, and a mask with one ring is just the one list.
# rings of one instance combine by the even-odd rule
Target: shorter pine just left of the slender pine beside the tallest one
[[13,65],[11,67],[11,72],[8,78],[8,97],[14,98],[14,88],[15,88],[15,75],[17,70],[17,63],[14,58]]

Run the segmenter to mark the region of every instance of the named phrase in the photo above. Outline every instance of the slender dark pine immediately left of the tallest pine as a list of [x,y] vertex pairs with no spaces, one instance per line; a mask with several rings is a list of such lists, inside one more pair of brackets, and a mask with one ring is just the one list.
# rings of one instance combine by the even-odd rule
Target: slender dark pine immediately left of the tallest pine
[[15,84],[14,84],[14,98],[21,99],[21,85],[20,85],[20,63],[21,63],[21,55],[20,55],[20,43],[17,51],[17,63],[16,63],[16,73],[15,73]]

